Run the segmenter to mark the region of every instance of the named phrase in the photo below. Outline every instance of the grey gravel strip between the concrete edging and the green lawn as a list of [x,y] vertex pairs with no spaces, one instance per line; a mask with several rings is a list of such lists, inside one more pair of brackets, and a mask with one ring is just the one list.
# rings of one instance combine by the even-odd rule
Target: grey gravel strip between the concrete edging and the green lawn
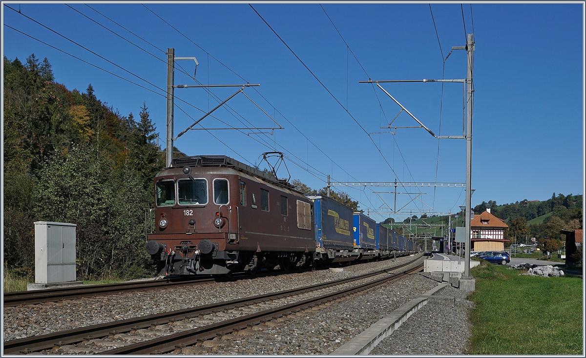
[[455,307],[446,300],[428,301],[370,354],[468,353],[472,335],[468,314],[474,308],[474,304],[466,300],[468,294],[451,286],[445,287],[437,295],[455,296]]

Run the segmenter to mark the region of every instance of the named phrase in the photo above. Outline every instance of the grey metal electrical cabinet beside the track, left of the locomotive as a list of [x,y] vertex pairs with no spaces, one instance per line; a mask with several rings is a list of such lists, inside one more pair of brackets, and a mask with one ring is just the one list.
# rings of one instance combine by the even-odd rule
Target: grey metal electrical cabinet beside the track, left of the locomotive
[[35,281],[76,281],[76,224],[35,222]]

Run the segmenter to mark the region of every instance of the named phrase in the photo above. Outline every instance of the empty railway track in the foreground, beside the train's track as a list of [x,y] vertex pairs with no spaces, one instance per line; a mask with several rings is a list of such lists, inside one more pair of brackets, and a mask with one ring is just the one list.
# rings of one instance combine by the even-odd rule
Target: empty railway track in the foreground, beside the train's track
[[[189,346],[198,340],[235,332],[261,321],[270,321],[282,315],[320,305],[325,301],[335,300],[343,295],[365,290],[403,276],[408,271],[420,270],[420,266],[417,266],[398,274],[388,274],[389,271],[412,265],[415,261],[370,274],[294,290],[9,340],[4,342],[4,353],[62,353],[64,350],[77,354],[171,352],[176,349],[175,346]],[[379,275],[383,277],[376,277]],[[359,281],[357,286],[356,281]]]

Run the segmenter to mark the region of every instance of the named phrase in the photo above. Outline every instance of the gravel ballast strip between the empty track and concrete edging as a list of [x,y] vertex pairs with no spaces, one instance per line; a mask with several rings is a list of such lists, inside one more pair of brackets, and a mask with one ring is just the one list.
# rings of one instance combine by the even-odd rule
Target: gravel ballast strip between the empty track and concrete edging
[[329,354],[393,309],[437,285],[419,274],[261,323],[222,338],[176,350],[175,354]]

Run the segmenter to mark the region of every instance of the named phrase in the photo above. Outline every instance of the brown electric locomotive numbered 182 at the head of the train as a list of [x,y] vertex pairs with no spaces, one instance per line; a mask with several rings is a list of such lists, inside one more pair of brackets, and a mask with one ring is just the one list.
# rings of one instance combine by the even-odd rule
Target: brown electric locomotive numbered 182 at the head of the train
[[159,274],[254,273],[311,264],[313,203],[287,181],[226,156],[176,158],[154,178]]

